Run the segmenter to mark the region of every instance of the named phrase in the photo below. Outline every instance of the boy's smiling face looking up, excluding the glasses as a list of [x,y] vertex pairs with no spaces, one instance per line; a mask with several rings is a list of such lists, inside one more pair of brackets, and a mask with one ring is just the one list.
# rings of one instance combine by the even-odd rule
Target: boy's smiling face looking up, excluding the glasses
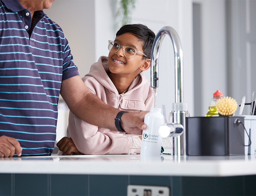
[[[119,35],[114,41],[122,46],[130,46],[143,52],[142,42],[131,33]],[[120,47],[117,52],[109,52],[109,70],[113,74],[121,74],[135,78],[144,70],[142,70],[141,67],[144,66],[145,61],[149,60],[142,59],[142,57],[143,55],[140,52],[137,52],[133,58],[128,58],[124,55],[123,47]]]

